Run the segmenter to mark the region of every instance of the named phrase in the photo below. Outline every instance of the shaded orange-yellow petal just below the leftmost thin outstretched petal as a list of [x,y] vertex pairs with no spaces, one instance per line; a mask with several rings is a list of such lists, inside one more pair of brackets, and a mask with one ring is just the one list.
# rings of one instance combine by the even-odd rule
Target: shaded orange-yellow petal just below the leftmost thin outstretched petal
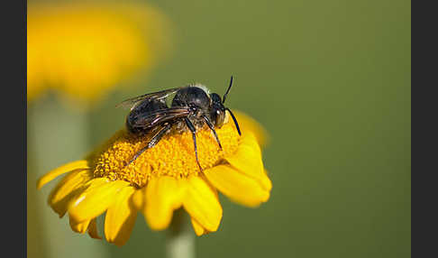
[[90,170],[71,171],[62,179],[57,187],[50,192],[49,205],[63,217],[67,212],[68,203],[78,195],[79,191],[84,190],[86,183],[93,179],[93,172]]

